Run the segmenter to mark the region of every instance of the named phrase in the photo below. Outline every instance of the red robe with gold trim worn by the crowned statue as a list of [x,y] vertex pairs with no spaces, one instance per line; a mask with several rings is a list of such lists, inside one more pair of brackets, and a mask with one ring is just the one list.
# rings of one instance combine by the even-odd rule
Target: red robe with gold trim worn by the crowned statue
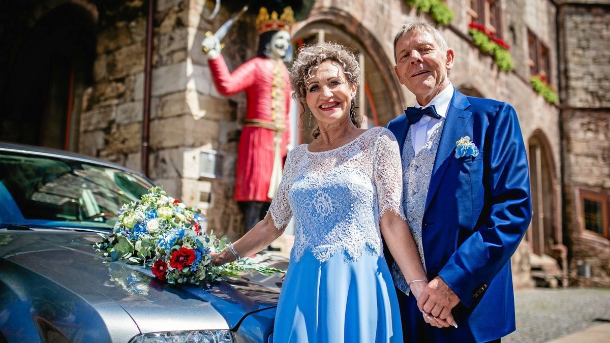
[[281,167],[290,142],[292,89],[288,70],[281,59],[260,56],[243,63],[233,73],[229,73],[221,55],[209,60],[209,64],[219,93],[227,96],[245,90],[247,96],[248,110],[237,150],[235,200],[270,202],[279,184],[276,180],[271,182],[277,158],[274,154],[278,154]]

